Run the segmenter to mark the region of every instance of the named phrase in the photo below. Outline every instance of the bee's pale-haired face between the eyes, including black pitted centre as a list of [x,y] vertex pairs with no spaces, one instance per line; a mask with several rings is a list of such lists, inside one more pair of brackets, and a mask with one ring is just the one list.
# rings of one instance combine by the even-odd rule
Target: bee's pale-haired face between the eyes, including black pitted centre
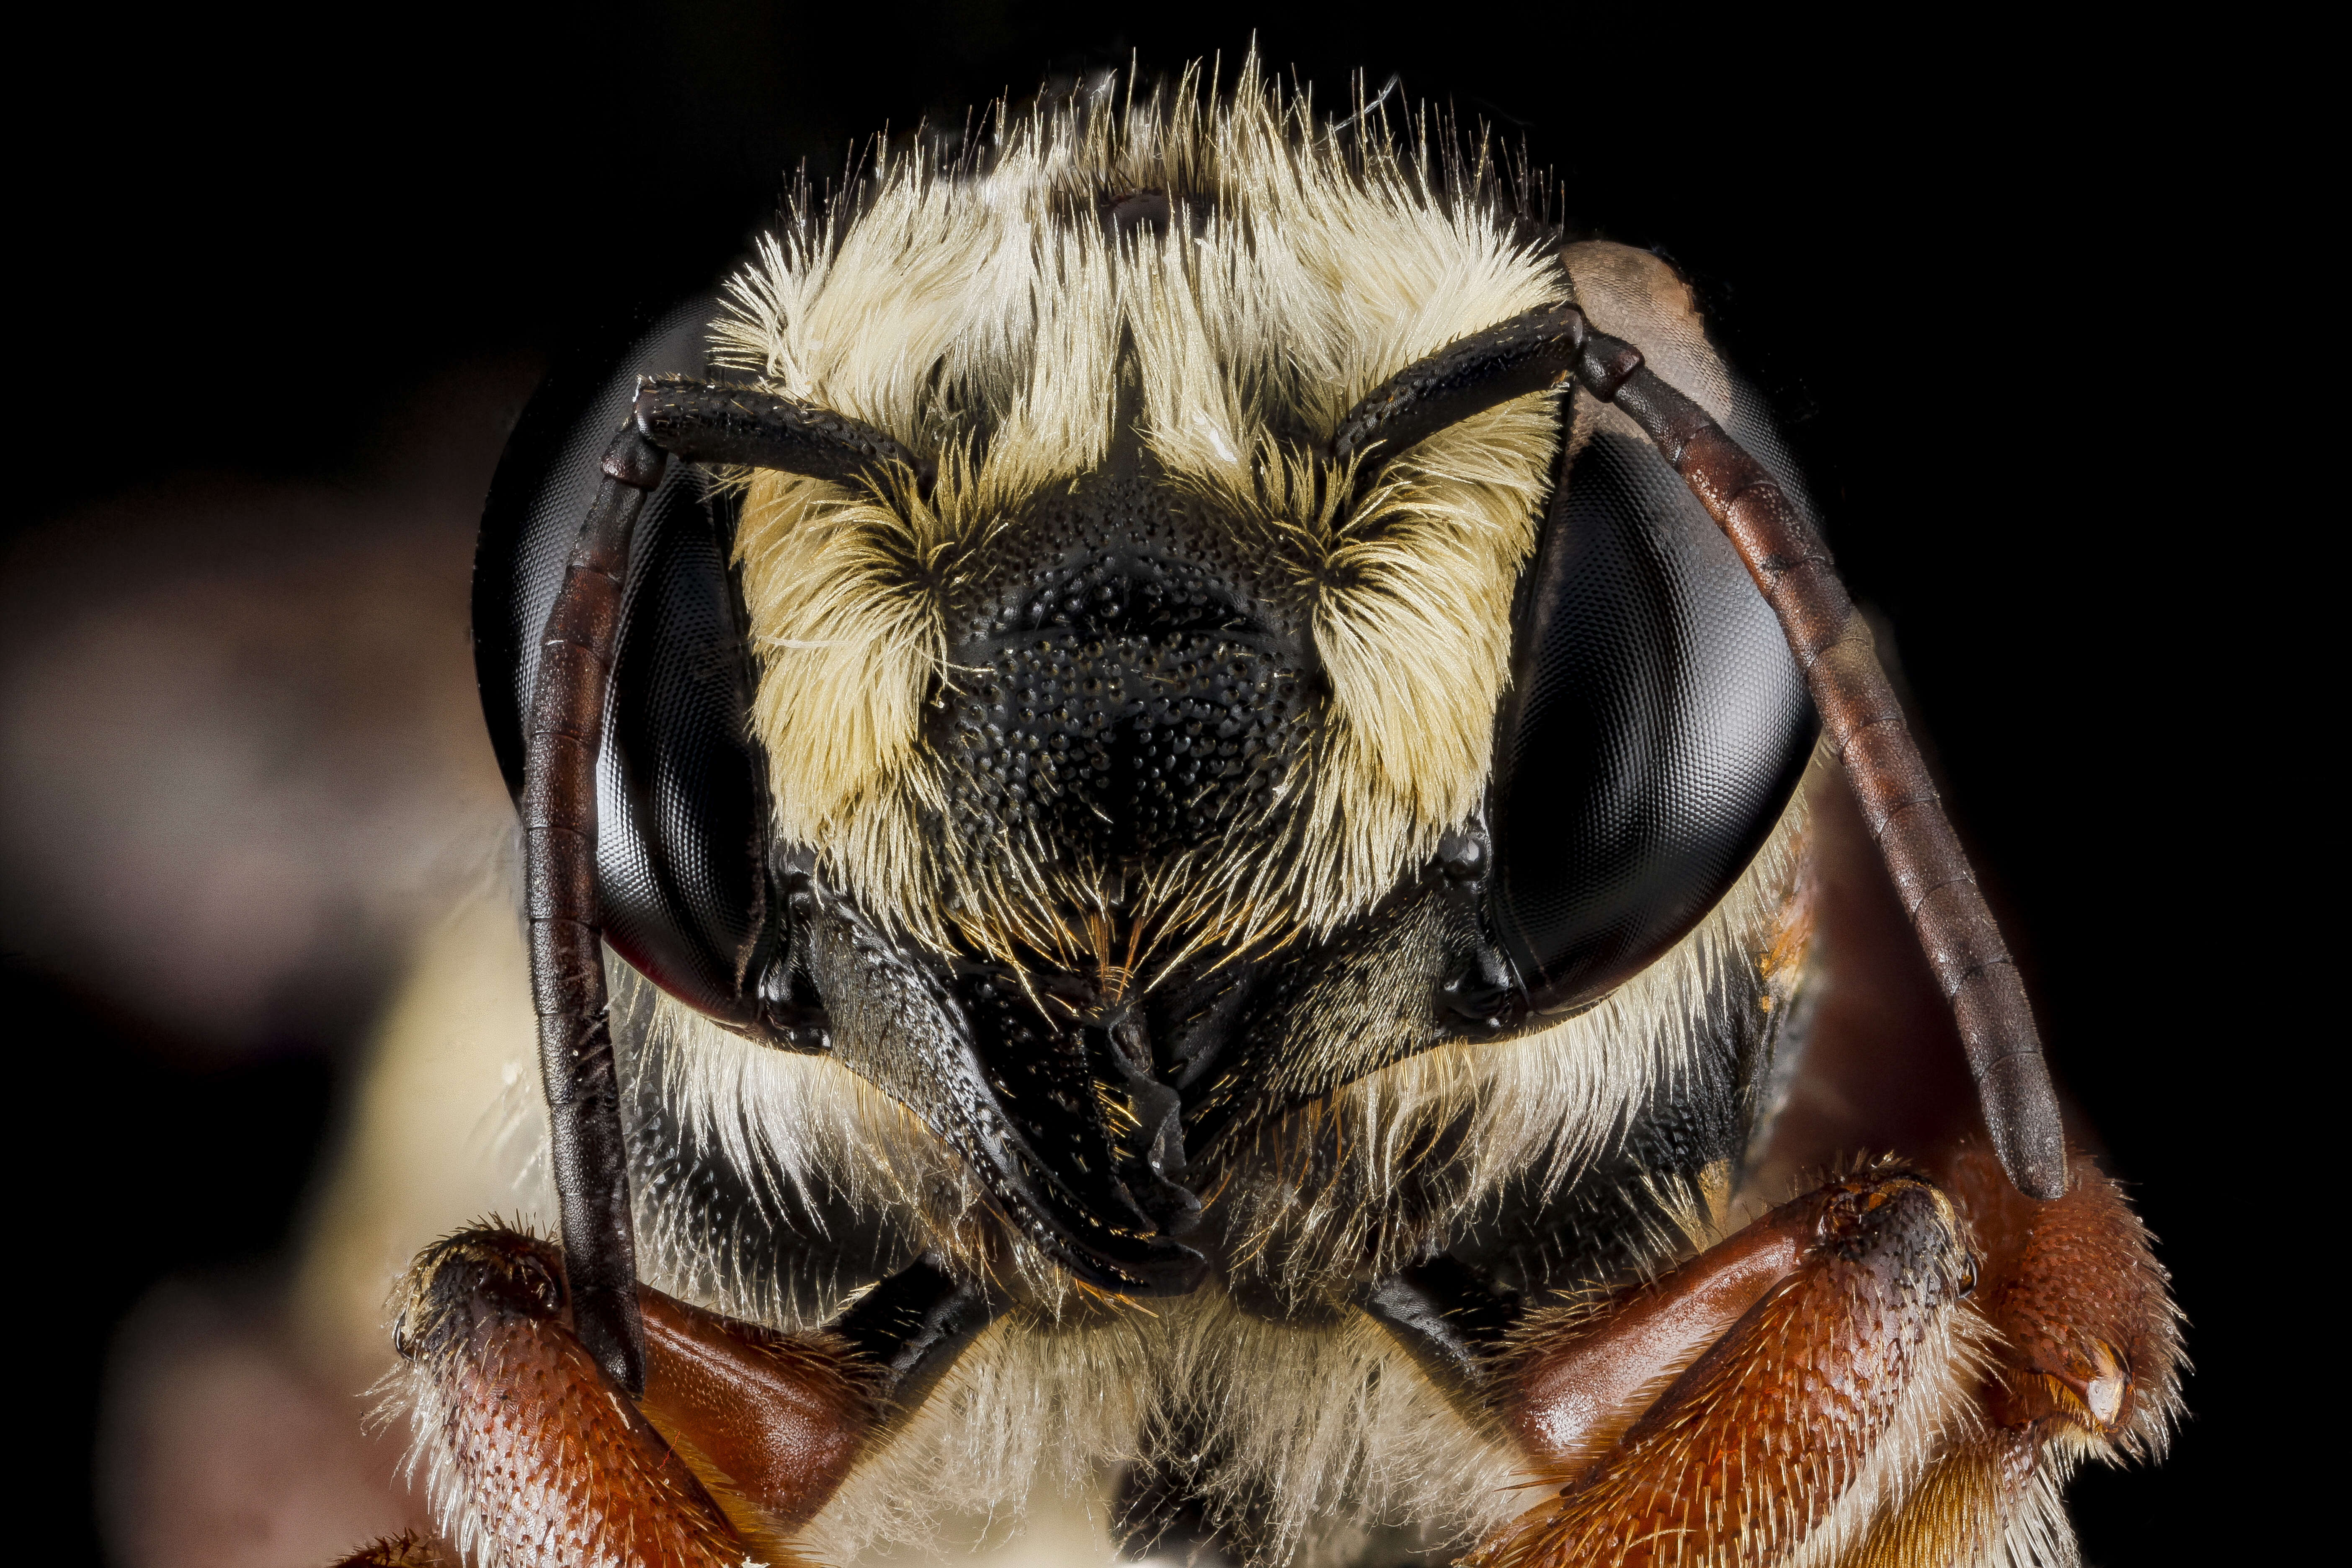
[[[739,536],[781,827],[894,926],[1049,957],[1110,903],[1145,947],[1329,931],[1479,804],[1555,400],[1378,482],[1324,447],[1381,376],[1562,280],[1508,212],[1369,200],[1336,153],[1258,146],[1277,129],[1232,120],[1188,167],[1183,127],[1049,120],[741,289],[746,371],[938,463],[866,501],[760,475]],[[1101,216],[1122,190],[1167,221]],[[1329,214],[1291,235],[1301,202],[1416,275],[1367,287]]]

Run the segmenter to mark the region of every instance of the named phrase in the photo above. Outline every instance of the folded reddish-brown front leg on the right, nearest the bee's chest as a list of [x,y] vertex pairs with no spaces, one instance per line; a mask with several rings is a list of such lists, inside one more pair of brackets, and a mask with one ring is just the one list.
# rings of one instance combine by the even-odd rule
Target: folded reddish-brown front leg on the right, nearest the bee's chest
[[1867,1523],[1966,1410],[1971,1274],[1955,1204],[1884,1168],[1646,1286],[1531,1314],[1496,1410],[1552,1490],[1472,1561],[1762,1566]]

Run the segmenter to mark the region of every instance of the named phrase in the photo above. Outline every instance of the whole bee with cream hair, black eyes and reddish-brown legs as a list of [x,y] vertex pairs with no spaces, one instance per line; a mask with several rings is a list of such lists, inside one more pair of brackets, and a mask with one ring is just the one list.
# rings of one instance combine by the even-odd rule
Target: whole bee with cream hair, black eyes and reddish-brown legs
[[1769,409],[1444,122],[1251,59],[802,188],[527,414],[475,628],[560,1234],[395,1298],[459,1556],[2072,1561],[2164,1450]]

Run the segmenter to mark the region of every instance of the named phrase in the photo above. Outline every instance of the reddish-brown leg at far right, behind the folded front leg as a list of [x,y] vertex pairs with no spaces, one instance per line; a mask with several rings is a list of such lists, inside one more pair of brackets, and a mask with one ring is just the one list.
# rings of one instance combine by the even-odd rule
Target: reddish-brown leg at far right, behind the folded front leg
[[[1950,1009],[1905,931],[1851,790],[1813,788],[1813,1025],[1795,1093],[1750,1171],[1788,1190],[1846,1150],[1903,1152],[1969,1220],[1992,1331],[1978,1422],[1955,1432],[1853,1566],[1969,1561],[2009,1537],[2020,1561],[2072,1559],[2060,1486],[2082,1458],[2157,1458],[2180,1408],[2180,1326],[2147,1232],[2074,1152],[2034,1204],[1992,1161]],[[2079,1133],[2079,1128],[2077,1128]]]

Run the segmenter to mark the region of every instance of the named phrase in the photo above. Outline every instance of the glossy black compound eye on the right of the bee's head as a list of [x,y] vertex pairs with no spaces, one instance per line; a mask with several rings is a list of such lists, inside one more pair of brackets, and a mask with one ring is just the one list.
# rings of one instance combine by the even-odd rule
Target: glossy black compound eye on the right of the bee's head
[[[1599,414],[1555,496],[1496,729],[1489,910],[1538,1013],[1597,1001],[1705,919],[1813,750],[1771,607],[1621,421]],[[1780,451],[1752,395],[1724,423]]]

